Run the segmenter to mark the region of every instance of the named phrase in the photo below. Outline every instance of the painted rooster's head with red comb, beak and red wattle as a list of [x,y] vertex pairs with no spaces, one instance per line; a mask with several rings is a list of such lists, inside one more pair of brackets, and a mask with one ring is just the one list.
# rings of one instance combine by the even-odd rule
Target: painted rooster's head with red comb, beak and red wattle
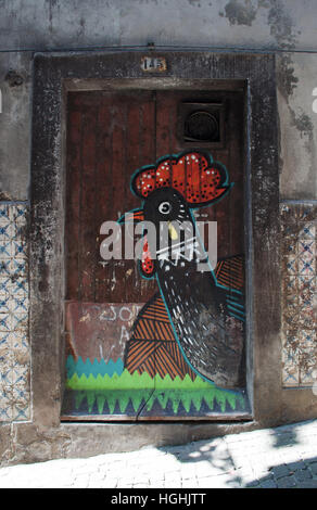
[[[156,165],[136,171],[131,190],[143,199],[143,204],[125,214],[119,222],[151,221],[155,226],[156,246],[162,245],[164,232],[160,226],[165,225],[170,240],[180,242],[175,225],[181,228],[187,224],[194,229],[191,209],[220,200],[230,189],[227,181],[226,167],[213,162],[208,153],[195,151],[165,156]],[[145,278],[152,278],[156,272],[156,257],[151,255],[145,237],[140,269]]]

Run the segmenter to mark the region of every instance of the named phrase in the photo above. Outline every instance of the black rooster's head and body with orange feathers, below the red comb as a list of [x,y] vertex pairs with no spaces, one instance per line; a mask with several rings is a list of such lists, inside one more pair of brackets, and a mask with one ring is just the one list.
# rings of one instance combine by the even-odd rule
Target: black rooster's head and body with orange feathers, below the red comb
[[[228,191],[224,178],[220,184]],[[140,270],[156,278],[160,293],[134,324],[126,368],[172,378],[188,373],[192,379],[200,375],[237,387],[242,383],[243,365],[242,258],[220,260],[212,270],[191,204],[175,187],[156,187],[143,202],[142,219],[155,226],[156,239],[154,243],[148,240]],[[226,281],[228,273],[230,281]]]

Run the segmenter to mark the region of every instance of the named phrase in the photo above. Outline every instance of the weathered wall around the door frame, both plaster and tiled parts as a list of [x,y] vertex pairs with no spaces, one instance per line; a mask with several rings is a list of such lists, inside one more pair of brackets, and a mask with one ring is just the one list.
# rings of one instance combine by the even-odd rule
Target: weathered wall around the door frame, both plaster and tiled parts
[[[34,53],[37,51],[93,51],[104,48],[126,51],[128,48],[140,49],[153,41],[156,47],[165,49],[206,48],[211,51],[221,49],[276,53],[280,199],[283,201],[281,227],[283,232],[289,232],[281,246],[281,342],[284,364],[281,384],[292,387],[308,386],[299,390],[299,407],[305,409],[305,418],[317,415],[317,397],[312,392],[312,364],[308,367],[303,364],[303,359],[313,359],[316,356],[316,328],[314,323],[312,326],[316,306],[314,235],[317,199],[317,113],[313,111],[313,90],[317,87],[316,14],[315,0],[0,0],[0,200],[4,201],[0,204],[3,212],[0,221],[0,391],[2,390],[5,397],[2,397],[2,400],[0,398],[0,420],[3,423],[0,428],[0,456],[3,454],[4,460],[45,460],[64,455],[78,455],[80,448],[84,455],[105,451],[102,439],[98,442],[99,432],[96,432],[93,445],[77,444],[76,431],[80,425],[64,425],[59,432],[42,431],[37,426],[27,429],[23,423],[20,423],[20,428],[15,426],[15,422],[33,419],[31,357],[27,320],[20,326],[14,322],[14,293],[18,290],[14,286],[14,267],[22,259],[26,259],[27,247],[24,246],[21,252],[13,250],[16,243],[25,239],[25,229],[16,230],[12,219],[21,205],[24,211],[21,221],[26,221],[27,218],[30,189],[31,65]],[[262,171],[265,177],[265,170]],[[294,201],[299,201],[299,204]],[[308,219],[303,216],[307,208],[303,209],[302,205],[307,205],[309,209]],[[301,218],[299,215],[302,215]],[[301,229],[296,227],[297,224]],[[309,233],[303,230],[307,227]],[[310,234],[314,237],[313,241]],[[310,244],[305,248],[307,241]],[[278,240],[274,239],[272,243],[276,242]],[[8,243],[10,252],[5,247]],[[304,255],[300,250],[303,250]],[[4,272],[5,268],[9,272]],[[292,268],[295,268],[294,273]],[[304,275],[301,273],[303,268]],[[27,289],[27,269],[20,266],[20,271],[18,279],[24,282],[24,289]],[[297,293],[296,303],[291,303],[288,298],[288,285],[295,282],[299,290],[303,282],[302,277],[305,283],[304,293],[301,296]],[[26,306],[27,310],[27,294],[24,292],[23,296],[23,306]],[[291,332],[288,326],[299,317],[300,310],[306,314],[308,321],[305,331],[312,332],[308,352],[301,324],[293,323]],[[9,322],[5,319],[7,313]],[[25,310],[20,309],[18,313],[22,317]],[[10,324],[9,331],[5,324]],[[8,342],[5,339],[9,333]],[[15,386],[20,393],[16,391],[13,394],[16,373],[21,377],[20,385]],[[284,393],[281,419],[299,419],[295,412],[287,412],[291,398],[294,397],[290,393]],[[195,434],[202,437],[202,429],[203,425],[196,425],[195,431],[189,435],[188,429],[180,425],[178,441],[194,438]],[[101,428],[97,430],[100,431]],[[124,430],[123,447],[131,448],[134,442],[127,438],[127,428],[119,425],[117,433]],[[227,426],[218,428],[219,434],[226,432]],[[112,434],[113,431],[109,429],[110,442]],[[139,425],[138,433],[136,434],[134,429],[131,434],[135,435],[135,447],[149,443],[163,444],[174,441],[174,426],[160,425],[155,433],[150,435],[145,426]]]

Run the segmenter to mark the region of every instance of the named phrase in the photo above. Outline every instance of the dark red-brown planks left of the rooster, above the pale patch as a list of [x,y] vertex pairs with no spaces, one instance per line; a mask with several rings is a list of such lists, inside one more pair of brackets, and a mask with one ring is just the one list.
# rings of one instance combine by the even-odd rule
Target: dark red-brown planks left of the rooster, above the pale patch
[[[138,166],[155,158],[153,94],[69,95],[66,203],[74,205],[66,221],[66,298],[124,303],[141,295],[147,301],[153,283],[138,278],[134,262],[128,267],[122,260],[103,264],[99,231],[124,207],[138,205],[129,181]],[[136,284],[123,284],[125,278],[135,278]]]

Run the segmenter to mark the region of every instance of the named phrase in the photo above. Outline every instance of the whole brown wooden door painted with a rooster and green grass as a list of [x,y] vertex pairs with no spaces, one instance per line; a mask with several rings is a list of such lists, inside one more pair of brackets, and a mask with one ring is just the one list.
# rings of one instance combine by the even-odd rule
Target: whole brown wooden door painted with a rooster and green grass
[[[181,158],[186,163],[190,157],[195,163],[188,167],[191,174],[183,183]],[[160,171],[168,165],[174,180],[160,182]],[[216,180],[211,180],[210,170]],[[147,173],[154,194],[144,191]],[[248,411],[243,182],[242,91],[68,93],[62,419],[237,419]],[[190,187],[192,196],[186,191]],[[205,370],[199,359],[200,350],[191,352],[190,337],[182,343],[186,333],[175,322],[176,301],[162,290],[162,271],[160,277],[152,270],[151,260],[149,270],[145,262],[140,266],[124,254],[122,259],[104,260],[100,253],[104,221],[147,208],[162,191],[166,196],[175,190],[194,226],[199,219],[217,221],[218,259],[205,281],[215,282],[211,295],[216,296],[218,310],[227,310],[219,331],[229,332],[224,337],[211,333],[218,335],[219,345],[228,343],[228,350],[215,349],[215,362],[223,364],[220,375],[225,374],[215,378],[216,384],[211,368]],[[173,291],[180,302],[186,295],[181,275]],[[202,291],[192,291],[188,299],[199,299],[202,310],[201,295],[208,286],[193,272],[191,279]],[[203,334],[199,314],[192,318],[198,345]],[[206,336],[201,357],[208,355],[208,345]],[[231,361],[224,361],[230,353]]]

